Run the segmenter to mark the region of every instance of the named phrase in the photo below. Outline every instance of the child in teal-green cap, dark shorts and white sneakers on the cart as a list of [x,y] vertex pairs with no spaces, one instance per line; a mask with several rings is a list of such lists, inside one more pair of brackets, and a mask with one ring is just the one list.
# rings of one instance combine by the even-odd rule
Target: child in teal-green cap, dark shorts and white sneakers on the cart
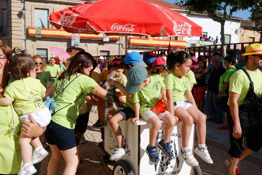
[[118,125],[118,122],[128,120],[129,118],[131,118],[131,123],[139,120],[139,112],[138,115],[135,115],[134,113],[134,109],[136,108],[136,106],[134,106],[134,102],[138,101],[133,101],[133,95],[137,93],[141,83],[146,80],[146,77],[147,71],[145,67],[133,66],[127,73],[126,87],[115,80],[112,80],[109,83],[110,85],[115,85],[116,87],[118,87],[120,91],[123,92],[123,94],[126,96],[126,102],[124,104],[126,108],[117,113],[114,110],[109,111],[109,114],[107,116],[107,120],[115,135],[113,142],[109,145],[109,149],[115,149],[114,153],[110,157],[110,160],[119,159],[120,157],[128,153],[128,149],[124,146],[125,138],[122,136],[122,131],[120,126]]

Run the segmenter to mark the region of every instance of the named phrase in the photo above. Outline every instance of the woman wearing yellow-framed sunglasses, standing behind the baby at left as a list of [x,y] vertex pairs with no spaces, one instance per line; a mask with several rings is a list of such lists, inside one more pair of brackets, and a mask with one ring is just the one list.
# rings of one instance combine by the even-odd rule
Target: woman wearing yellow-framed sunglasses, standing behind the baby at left
[[[36,64],[36,79],[39,79],[42,85],[48,89],[52,84],[50,71],[45,71],[46,65],[44,59],[40,55],[34,55],[32,57]],[[50,82],[50,83],[48,83]],[[48,86],[49,85],[49,86]]]

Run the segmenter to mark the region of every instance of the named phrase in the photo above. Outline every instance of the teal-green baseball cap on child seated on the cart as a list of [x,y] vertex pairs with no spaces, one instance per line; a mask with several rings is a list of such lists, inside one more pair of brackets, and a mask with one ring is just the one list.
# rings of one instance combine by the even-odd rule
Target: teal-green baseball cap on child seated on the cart
[[127,73],[127,83],[125,91],[134,94],[139,90],[139,87],[143,81],[146,80],[147,71],[145,67],[133,66]]

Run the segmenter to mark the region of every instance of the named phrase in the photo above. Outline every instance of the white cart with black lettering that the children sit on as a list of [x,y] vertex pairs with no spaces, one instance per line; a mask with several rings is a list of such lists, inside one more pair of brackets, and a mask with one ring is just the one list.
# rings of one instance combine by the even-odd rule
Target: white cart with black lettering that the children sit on
[[[131,124],[129,120],[120,122],[119,125],[122,129],[123,136],[126,138],[124,144],[129,151],[117,160],[112,175],[190,175],[192,173],[192,167],[188,166],[180,155],[180,149],[182,147],[182,124],[181,121],[176,124],[171,135],[171,146],[174,157],[167,157],[157,148],[160,161],[154,163],[149,160],[145,152],[149,143],[149,130],[152,125],[142,118],[135,124]],[[162,121],[162,127],[157,134],[156,143],[164,137],[164,128],[166,125],[167,124]],[[108,148],[113,138],[114,133],[108,124],[107,127],[105,127],[105,150],[109,155],[112,155],[114,151]],[[191,129],[189,146],[193,152],[194,125]]]

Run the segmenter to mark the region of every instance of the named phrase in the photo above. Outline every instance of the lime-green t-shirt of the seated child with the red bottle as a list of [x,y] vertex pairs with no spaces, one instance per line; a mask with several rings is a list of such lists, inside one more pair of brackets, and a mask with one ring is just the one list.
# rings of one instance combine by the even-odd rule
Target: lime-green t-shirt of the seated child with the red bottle
[[161,94],[161,89],[165,87],[159,75],[149,77],[151,78],[149,84],[133,94],[134,103],[140,102],[140,115],[143,115],[149,109],[155,108],[158,103],[158,95]]

